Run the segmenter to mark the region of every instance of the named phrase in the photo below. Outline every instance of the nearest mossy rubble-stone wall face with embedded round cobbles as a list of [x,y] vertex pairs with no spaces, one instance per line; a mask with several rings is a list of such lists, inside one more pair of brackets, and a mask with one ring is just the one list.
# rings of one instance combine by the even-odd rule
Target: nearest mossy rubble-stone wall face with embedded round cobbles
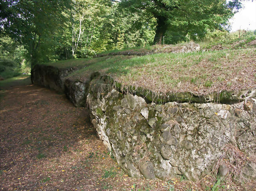
[[198,180],[226,144],[256,152],[254,98],[232,105],[157,105],[108,87],[104,78],[93,79],[87,102],[100,139],[130,176]]

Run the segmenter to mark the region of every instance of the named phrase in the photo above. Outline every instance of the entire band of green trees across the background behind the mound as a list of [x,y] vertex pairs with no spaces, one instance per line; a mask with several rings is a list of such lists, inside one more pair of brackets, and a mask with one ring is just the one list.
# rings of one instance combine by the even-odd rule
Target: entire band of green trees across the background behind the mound
[[240,8],[241,0],[0,0],[0,49],[33,66],[161,44],[163,36],[168,44],[200,40],[226,30]]

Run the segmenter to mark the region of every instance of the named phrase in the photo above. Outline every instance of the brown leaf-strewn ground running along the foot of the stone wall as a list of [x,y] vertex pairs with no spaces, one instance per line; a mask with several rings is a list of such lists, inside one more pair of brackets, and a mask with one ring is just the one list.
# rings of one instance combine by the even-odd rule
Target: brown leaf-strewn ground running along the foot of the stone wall
[[0,191],[210,191],[229,187],[216,185],[215,179],[195,183],[184,176],[165,181],[128,177],[96,136],[87,109],[74,107],[65,95],[31,85],[29,76],[13,79],[0,82]]

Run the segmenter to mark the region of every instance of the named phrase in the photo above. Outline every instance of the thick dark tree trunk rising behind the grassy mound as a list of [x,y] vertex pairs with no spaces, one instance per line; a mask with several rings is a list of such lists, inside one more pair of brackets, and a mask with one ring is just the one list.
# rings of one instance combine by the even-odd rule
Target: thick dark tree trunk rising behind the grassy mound
[[163,35],[167,31],[167,25],[165,24],[166,18],[163,16],[157,16],[156,35],[154,38],[154,44],[161,44]]

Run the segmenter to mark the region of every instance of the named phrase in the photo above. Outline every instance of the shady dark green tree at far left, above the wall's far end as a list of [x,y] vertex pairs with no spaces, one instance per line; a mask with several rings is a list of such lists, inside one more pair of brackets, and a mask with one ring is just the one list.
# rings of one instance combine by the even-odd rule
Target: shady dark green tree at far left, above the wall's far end
[[70,0],[1,0],[1,28],[24,45],[31,65],[46,61]]

